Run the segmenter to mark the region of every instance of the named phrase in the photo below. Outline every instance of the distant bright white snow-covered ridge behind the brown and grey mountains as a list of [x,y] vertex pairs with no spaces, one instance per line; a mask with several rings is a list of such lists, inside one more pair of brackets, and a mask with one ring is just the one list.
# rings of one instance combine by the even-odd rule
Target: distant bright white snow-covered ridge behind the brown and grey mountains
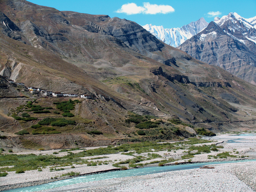
[[192,36],[205,29],[208,24],[209,23],[207,23],[206,20],[201,17],[199,20],[195,22],[193,21],[188,25],[184,25],[180,28],[164,29],[163,26],[153,26],[151,24],[146,24],[143,26],[143,28],[164,43],[169,44],[172,47],[178,47],[184,41],[192,38]]

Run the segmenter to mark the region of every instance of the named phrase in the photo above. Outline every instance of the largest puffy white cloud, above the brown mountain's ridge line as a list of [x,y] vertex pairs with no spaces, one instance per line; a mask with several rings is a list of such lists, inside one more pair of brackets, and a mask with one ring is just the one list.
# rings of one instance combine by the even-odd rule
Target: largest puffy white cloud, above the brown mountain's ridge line
[[175,10],[172,8],[172,6],[169,5],[143,3],[143,6],[137,6],[135,3],[127,3],[122,5],[121,9],[118,9],[116,12],[125,13],[127,15],[139,13],[155,15],[157,13],[167,14],[174,11]]

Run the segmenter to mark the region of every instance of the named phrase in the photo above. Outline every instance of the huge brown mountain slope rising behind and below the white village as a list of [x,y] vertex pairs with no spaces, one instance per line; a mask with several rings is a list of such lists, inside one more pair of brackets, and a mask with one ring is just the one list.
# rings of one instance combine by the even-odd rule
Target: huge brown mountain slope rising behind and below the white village
[[[189,137],[187,124],[212,131],[254,127],[252,84],[164,44],[135,22],[60,12],[25,0],[1,0],[0,12],[1,76],[26,86],[97,98],[74,104],[69,110],[74,116],[65,118],[75,124],[33,131],[31,126],[39,127],[44,118],[63,117],[56,103],[69,98],[41,98],[14,87],[20,96],[0,99],[6,145],[61,148],[177,139]],[[26,105],[29,101],[33,104]],[[50,109],[41,114],[32,108]],[[22,119],[23,113],[33,120]],[[171,119],[183,122],[175,120],[180,125],[174,125]],[[43,134],[47,130],[55,134]],[[29,134],[17,137],[17,131]]]

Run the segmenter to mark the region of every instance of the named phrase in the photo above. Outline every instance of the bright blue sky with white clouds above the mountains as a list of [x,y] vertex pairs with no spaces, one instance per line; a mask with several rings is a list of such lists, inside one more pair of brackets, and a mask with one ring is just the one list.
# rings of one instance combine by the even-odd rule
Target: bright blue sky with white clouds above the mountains
[[29,0],[60,11],[109,15],[135,21],[177,28],[201,17],[209,23],[214,17],[236,12],[241,17],[256,16],[256,0]]

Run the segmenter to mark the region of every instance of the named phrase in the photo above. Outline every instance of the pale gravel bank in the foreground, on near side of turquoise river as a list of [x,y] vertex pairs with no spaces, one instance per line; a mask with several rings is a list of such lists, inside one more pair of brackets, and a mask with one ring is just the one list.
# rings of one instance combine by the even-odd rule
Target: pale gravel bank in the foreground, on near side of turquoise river
[[[214,169],[188,169],[122,177],[63,186],[44,192],[253,192],[255,162],[212,165]],[[246,172],[241,167],[250,167]],[[253,174],[254,177],[248,180]],[[248,180],[248,181],[247,181]],[[250,183],[251,182],[251,183]]]

